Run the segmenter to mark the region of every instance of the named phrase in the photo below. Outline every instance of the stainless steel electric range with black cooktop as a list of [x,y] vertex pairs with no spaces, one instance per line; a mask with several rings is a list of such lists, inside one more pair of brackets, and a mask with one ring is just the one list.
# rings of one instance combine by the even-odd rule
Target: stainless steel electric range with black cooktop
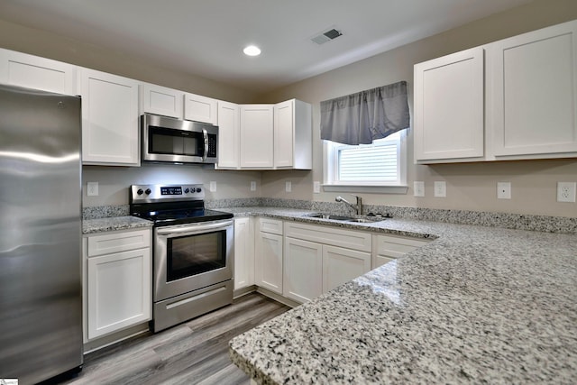
[[130,212],[154,222],[154,333],[233,302],[233,215],[203,185],[133,185]]

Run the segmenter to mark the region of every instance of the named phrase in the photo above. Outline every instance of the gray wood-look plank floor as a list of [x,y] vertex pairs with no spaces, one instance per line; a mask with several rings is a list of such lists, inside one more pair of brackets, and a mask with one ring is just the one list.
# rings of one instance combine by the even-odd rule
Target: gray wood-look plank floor
[[78,377],[63,383],[248,385],[249,377],[229,358],[228,341],[287,310],[252,293],[156,335],[88,353]]

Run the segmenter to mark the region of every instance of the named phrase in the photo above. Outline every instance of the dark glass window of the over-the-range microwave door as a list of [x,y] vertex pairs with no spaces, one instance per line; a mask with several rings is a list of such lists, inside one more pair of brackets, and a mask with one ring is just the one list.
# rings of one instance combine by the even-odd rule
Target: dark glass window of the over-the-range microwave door
[[203,156],[204,139],[202,133],[149,127],[149,153]]

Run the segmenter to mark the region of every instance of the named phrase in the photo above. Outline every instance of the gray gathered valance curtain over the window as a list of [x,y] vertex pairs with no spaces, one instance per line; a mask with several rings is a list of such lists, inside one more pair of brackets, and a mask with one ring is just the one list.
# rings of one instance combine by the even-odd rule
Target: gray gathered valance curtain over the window
[[321,102],[321,139],[369,144],[408,128],[407,82]]

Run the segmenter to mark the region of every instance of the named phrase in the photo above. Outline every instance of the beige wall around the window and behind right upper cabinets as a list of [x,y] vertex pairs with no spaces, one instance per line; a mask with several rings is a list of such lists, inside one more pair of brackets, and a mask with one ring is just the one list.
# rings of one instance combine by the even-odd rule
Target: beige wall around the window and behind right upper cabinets
[[[322,100],[363,89],[407,80],[412,108],[413,65],[519,33],[577,19],[577,1],[539,0],[508,12],[437,34],[396,50],[390,50],[341,69],[308,78],[262,96],[266,102],[297,97],[313,105],[314,170],[312,172],[265,172],[264,197],[286,197],[332,201],[336,193],[313,194],[313,181],[323,180],[319,107]],[[577,204],[556,202],[557,181],[577,181],[577,160],[499,161],[474,164],[417,166],[412,164],[412,134],[409,135],[407,195],[360,194],[375,205],[425,206],[536,215],[577,216]],[[293,182],[291,193],[284,183]],[[424,180],[426,197],[413,197],[413,181]],[[447,197],[433,197],[435,180],[445,180]],[[497,199],[498,181],[510,181],[512,199]]]

